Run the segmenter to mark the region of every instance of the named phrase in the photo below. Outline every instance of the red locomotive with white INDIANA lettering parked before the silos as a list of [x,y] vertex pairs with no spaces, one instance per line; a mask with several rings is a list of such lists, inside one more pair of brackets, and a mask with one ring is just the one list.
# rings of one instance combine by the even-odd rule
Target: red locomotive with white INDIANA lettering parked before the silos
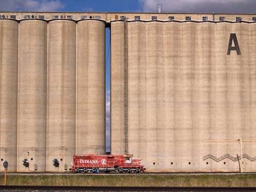
[[132,159],[131,155],[75,155],[73,172],[144,172],[141,159]]

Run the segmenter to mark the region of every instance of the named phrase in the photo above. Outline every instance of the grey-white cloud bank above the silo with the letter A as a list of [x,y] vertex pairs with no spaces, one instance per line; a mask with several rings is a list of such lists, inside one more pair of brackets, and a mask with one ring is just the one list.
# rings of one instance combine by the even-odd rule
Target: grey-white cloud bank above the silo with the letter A
[[255,13],[255,0],[139,0],[144,12]]

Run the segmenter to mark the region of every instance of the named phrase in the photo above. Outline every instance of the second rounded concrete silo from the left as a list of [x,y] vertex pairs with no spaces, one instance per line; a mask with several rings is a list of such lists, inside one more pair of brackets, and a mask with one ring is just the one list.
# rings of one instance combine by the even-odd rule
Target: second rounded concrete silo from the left
[[19,24],[17,172],[46,171],[47,22]]

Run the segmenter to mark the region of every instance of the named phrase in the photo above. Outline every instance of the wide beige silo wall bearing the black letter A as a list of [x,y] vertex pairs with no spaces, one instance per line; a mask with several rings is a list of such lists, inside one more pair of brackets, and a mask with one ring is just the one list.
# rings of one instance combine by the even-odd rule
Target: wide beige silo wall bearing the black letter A
[[[255,23],[134,21],[127,26],[129,153],[141,158],[148,172],[239,172],[241,138],[243,171],[253,172]],[[124,61],[114,46],[124,45],[122,29],[122,21],[112,22],[111,148],[116,155],[124,153],[124,139],[113,138],[124,135],[119,103]],[[232,50],[235,39],[227,53],[234,33],[241,54]]]

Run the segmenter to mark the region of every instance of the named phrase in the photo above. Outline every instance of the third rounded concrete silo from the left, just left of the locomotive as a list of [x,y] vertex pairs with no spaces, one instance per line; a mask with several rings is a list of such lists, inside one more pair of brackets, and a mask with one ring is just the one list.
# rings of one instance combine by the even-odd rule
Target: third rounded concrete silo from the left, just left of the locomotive
[[75,155],[76,23],[52,20],[48,31],[47,171],[55,172],[70,168]]

